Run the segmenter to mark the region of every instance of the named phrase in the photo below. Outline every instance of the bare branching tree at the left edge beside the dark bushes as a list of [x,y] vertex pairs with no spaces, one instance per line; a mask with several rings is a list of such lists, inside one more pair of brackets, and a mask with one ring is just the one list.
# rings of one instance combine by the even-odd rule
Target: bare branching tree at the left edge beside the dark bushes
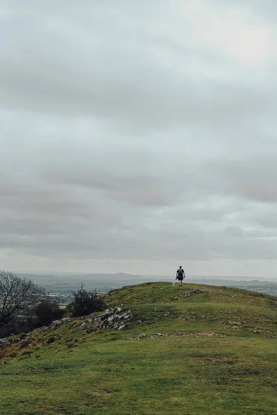
[[44,290],[30,279],[0,271],[0,335],[15,329],[43,295]]

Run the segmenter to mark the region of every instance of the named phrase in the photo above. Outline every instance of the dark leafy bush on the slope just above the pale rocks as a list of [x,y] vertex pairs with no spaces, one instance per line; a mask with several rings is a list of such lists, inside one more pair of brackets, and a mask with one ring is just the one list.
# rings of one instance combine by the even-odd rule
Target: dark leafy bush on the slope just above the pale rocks
[[73,317],[89,315],[95,311],[103,311],[107,308],[102,298],[97,295],[96,290],[86,291],[83,286],[81,286],[77,293],[73,293],[73,295]]

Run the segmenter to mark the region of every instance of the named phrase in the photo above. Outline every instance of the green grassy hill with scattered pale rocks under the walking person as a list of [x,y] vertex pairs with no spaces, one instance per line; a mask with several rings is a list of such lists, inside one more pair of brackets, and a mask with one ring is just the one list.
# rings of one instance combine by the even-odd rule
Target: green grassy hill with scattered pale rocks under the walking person
[[1,415],[277,414],[276,297],[168,282],[104,297],[2,344]]

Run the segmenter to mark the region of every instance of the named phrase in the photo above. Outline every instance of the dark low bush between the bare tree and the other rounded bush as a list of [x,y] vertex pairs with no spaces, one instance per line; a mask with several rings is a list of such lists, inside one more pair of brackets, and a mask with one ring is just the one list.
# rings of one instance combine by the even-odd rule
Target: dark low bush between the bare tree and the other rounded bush
[[48,326],[54,320],[62,318],[63,315],[57,300],[50,297],[42,299],[35,307],[34,313],[37,317],[38,326]]

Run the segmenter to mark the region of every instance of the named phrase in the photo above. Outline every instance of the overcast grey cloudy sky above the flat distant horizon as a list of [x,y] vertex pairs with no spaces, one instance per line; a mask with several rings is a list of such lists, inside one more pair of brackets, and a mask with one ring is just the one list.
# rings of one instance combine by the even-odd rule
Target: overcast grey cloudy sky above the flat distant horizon
[[277,275],[275,0],[0,0],[0,268]]

